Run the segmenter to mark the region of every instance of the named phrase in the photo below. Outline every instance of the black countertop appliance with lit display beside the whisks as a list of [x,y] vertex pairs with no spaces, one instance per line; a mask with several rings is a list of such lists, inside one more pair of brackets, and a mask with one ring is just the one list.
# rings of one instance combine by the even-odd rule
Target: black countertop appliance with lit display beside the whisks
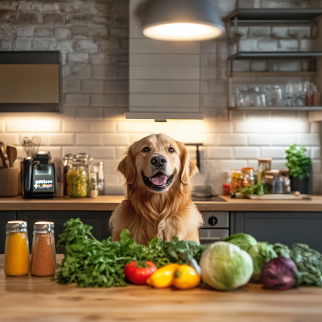
[[54,164],[50,152],[38,152],[21,162],[22,196],[25,199],[53,198],[56,192]]

